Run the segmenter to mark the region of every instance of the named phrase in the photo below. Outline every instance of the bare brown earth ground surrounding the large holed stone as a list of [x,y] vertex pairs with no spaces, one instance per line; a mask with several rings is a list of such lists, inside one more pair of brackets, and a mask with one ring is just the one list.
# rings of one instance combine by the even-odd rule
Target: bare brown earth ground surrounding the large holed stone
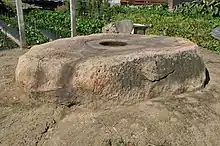
[[1,146],[220,145],[220,54],[201,50],[210,74],[201,91],[98,110],[30,104],[14,82],[24,52],[0,52]]

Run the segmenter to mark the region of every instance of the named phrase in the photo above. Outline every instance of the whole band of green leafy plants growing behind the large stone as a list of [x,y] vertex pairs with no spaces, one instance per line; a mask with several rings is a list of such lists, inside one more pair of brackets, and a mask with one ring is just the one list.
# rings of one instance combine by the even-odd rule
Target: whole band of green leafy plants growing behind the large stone
[[[92,4],[92,8],[91,5]],[[219,2],[194,1],[179,5],[175,12],[169,12],[164,6],[131,8],[126,6],[109,7],[106,3],[90,1],[78,3],[77,34],[88,35],[101,32],[102,27],[112,21],[131,19],[135,23],[153,24],[147,34],[179,36],[190,39],[199,46],[220,51],[220,41],[214,39],[210,32],[220,25]],[[14,24],[15,20],[7,20]],[[38,29],[45,29],[61,37],[70,36],[70,16],[68,7],[49,10],[32,10],[25,15],[28,26],[27,42],[29,44],[48,41]],[[16,26],[15,26],[16,25]]]

